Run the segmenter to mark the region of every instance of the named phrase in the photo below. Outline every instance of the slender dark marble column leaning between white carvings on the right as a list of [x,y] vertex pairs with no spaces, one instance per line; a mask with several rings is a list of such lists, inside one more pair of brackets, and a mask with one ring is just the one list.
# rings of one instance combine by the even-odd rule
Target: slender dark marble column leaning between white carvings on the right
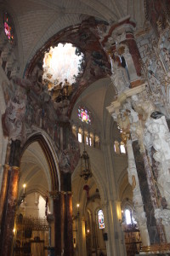
[[135,159],[135,164],[137,167],[138,177],[139,177],[139,186],[141,195],[144,202],[144,212],[146,213],[147,218],[147,227],[148,233],[150,236],[150,244],[160,243],[159,231],[156,225],[156,218],[154,214],[154,207],[150,195],[150,189],[147,182],[147,177],[144,165],[143,155],[140,154],[140,148],[138,141],[133,142],[133,154]]

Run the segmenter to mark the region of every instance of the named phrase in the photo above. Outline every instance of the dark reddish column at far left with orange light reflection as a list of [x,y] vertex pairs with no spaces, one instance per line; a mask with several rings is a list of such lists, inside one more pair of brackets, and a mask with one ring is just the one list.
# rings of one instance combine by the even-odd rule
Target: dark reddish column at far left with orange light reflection
[[0,255],[10,256],[14,241],[14,218],[17,206],[19,165],[20,165],[20,141],[12,141],[7,177],[7,193],[3,206],[3,218],[1,223],[1,251]]

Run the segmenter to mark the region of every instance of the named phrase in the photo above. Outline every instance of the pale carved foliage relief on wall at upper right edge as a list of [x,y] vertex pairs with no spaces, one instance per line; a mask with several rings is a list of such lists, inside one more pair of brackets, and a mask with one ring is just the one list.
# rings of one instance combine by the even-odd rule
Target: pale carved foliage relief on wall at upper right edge
[[147,49],[146,61],[142,63],[144,79],[148,82],[146,87],[150,100],[167,117],[170,116],[170,49],[169,26],[161,32],[158,43],[152,42],[152,48]]

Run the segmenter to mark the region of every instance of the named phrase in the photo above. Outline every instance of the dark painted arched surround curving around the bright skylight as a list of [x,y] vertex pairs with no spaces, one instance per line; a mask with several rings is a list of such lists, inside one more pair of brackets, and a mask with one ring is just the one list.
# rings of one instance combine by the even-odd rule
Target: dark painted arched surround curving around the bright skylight
[[[82,73],[77,76],[76,82],[72,84],[72,93],[68,97],[70,101],[68,108],[69,117],[71,117],[72,108],[82,91],[88,88],[89,84],[111,74],[111,64],[97,36],[98,25],[99,21],[95,20],[94,17],[90,17],[88,20],[83,20],[79,25],[70,26],[58,32],[37,50],[31,61],[27,63],[25,72],[23,73],[23,78],[34,80],[33,76],[37,72],[37,69],[42,72],[42,57],[51,46],[57,46],[59,43],[69,43],[80,49],[84,55],[84,61],[82,61]],[[41,80],[41,78],[38,79]]]

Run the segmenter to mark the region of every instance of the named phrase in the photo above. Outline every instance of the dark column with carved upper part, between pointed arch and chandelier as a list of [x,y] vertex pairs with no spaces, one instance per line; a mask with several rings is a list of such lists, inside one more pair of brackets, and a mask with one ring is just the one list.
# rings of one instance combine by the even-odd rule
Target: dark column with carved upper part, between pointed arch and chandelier
[[[76,137],[73,136],[70,123],[63,125],[63,143],[60,147],[59,170],[60,190],[65,192],[64,196],[64,251],[62,255],[73,256],[72,236],[72,194],[71,173],[75,170],[80,158],[80,150]],[[72,160],[74,158],[74,160]],[[57,218],[57,216],[56,216]]]

